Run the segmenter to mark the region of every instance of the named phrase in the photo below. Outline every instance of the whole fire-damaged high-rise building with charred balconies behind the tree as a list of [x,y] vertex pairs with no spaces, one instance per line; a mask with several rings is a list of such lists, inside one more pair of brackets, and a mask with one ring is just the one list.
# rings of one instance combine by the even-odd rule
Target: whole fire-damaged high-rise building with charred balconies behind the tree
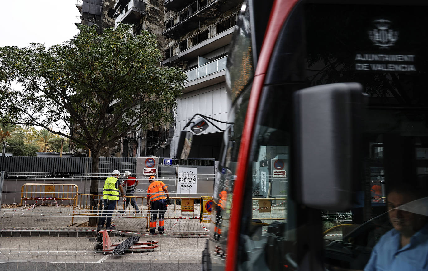
[[[193,115],[202,114],[220,121],[228,119],[231,104],[226,93],[226,61],[243,0],[108,2],[113,2],[115,25],[130,23],[134,25],[135,35],[143,29],[157,35],[164,57],[161,64],[183,68],[187,75],[182,95],[176,99],[175,122],[147,131],[130,132],[122,140],[120,156],[175,157],[180,131]],[[108,10],[112,7],[110,5]],[[224,123],[215,124],[221,129],[226,128]],[[211,125],[193,136],[189,157],[218,160],[222,139],[223,132]]]

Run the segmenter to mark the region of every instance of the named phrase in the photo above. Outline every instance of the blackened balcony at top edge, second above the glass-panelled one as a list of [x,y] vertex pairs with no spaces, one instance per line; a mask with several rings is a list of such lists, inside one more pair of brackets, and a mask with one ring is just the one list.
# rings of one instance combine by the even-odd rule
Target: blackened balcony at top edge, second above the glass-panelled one
[[218,17],[242,2],[243,0],[196,0],[165,21],[162,35],[176,40],[190,29],[198,28],[199,22]]

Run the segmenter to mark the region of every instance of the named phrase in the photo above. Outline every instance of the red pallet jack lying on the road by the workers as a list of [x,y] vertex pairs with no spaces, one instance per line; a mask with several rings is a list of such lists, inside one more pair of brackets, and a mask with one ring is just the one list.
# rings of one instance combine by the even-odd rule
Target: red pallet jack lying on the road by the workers
[[[128,237],[123,242],[111,242],[108,230],[101,230],[101,226],[98,223],[98,219],[101,216],[103,199],[95,199],[92,203],[94,203],[94,201],[99,201],[95,252],[112,252],[113,255],[123,255],[125,252],[134,250],[153,251],[155,248],[159,247],[159,241],[147,240],[140,242],[140,237],[135,235]],[[97,205],[93,204],[93,206],[95,207]]]

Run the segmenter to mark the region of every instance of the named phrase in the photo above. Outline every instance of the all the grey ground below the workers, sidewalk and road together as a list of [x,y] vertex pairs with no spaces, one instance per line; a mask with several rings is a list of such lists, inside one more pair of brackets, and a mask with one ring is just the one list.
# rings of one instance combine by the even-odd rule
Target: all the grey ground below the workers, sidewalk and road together
[[[208,238],[204,227],[208,229],[209,223],[184,219],[195,216],[197,210],[188,214],[167,212],[166,217],[172,218],[165,219],[166,230],[161,236],[147,234],[147,210],[142,210],[138,217],[134,217],[133,209],[124,216],[115,211],[116,230],[110,231],[113,242],[137,234],[140,240],[158,240],[159,248],[113,256],[95,253],[95,227],[78,227],[88,221],[88,216],[74,216],[71,225],[72,207],[32,207],[2,206],[0,270],[200,270]],[[178,216],[182,218],[177,219]]]

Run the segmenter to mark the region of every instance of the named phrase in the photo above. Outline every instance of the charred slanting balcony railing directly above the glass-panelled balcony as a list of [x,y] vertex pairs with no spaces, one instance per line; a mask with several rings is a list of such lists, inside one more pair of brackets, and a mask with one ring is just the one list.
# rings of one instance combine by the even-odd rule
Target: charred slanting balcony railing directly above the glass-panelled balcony
[[229,17],[226,17],[223,20],[220,20],[219,22],[203,29],[202,31],[197,32],[195,35],[192,35],[189,38],[186,38],[185,40],[169,47],[165,50],[165,59],[168,59],[174,55],[178,55],[180,52],[183,52],[184,50],[187,50],[196,44],[201,43],[202,41],[213,38],[216,35],[234,27],[238,18],[238,13],[239,12],[236,12]]

